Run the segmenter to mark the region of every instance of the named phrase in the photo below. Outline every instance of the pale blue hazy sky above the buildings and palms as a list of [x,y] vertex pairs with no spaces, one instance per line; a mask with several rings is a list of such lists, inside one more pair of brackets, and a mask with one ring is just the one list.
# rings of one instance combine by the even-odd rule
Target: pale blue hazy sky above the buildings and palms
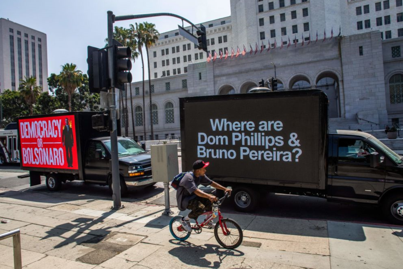
[[[174,13],[195,25],[231,15],[230,0],[0,0],[0,18],[46,33],[48,76],[60,73],[66,63],[74,63],[87,73],[87,46],[104,46],[108,10],[116,16]],[[178,29],[182,23],[174,17],[154,17],[119,21],[114,26],[129,28],[129,24],[143,21],[154,23],[160,33]],[[141,72],[139,59],[131,69],[133,81],[141,80]]]

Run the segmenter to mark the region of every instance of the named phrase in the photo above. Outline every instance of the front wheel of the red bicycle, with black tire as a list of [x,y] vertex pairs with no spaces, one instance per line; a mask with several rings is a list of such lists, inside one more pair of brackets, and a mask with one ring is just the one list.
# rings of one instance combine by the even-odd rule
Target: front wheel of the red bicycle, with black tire
[[[224,234],[224,231],[226,235]],[[220,223],[214,227],[214,236],[218,244],[224,248],[234,249],[241,245],[243,240],[243,232],[241,226],[232,219],[222,219]]]

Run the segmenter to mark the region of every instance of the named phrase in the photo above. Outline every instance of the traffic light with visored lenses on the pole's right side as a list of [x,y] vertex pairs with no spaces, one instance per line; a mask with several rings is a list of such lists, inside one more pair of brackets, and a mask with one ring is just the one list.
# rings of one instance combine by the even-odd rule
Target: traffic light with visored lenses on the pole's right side
[[125,83],[131,83],[131,49],[113,40],[114,87],[125,90]]

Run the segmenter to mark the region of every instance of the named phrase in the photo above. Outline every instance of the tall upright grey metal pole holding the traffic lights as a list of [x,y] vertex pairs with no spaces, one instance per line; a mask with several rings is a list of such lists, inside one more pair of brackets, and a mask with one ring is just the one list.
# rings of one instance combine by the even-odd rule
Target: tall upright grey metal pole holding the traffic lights
[[115,85],[114,85],[114,54],[113,54],[113,22],[114,15],[112,11],[108,11],[108,69],[109,69],[109,79],[112,82],[111,87],[108,90],[108,101],[109,101],[109,111],[110,120],[112,121],[112,130],[110,131],[110,148],[111,148],[111,159],[112,159],[112,199],[113,207],[112,209],[118,210],[122,207],[122,197],[120,196],[120,176],[119,176],[119,158],[118,158],[118,133],[117,133],[117,123],[116,123],[116,95],[115,95]]

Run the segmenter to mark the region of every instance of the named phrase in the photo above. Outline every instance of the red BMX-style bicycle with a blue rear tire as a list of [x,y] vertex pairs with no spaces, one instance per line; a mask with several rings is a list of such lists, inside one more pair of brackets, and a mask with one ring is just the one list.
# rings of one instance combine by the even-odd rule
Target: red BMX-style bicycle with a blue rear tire
[[[196,224],[191,224],[192,231],[195,231],[196,234],[200,234],[202,232],[202,228],[204,225],[209,223],[215,217],[218,217],[218,222],[214,227],[214,236],[222,247],[228,249],[234,249],[241,245],[243,240],[243,232],[241,226],[234,221],[233,219],[224,219],[221,215],[220,205],[224,202],[225,198],[229,197],[228,193],[224,195],[221,199],[213,204],[213,211],[206,211],[202,215],[210,215],[211,216],[206,219],[203,223],[199,224],[196,221]],[[215,210],[216,209],[216,212]],[[181,219],[183,216],[173,217],[169,223],[169,231],[172,236],[180,241],[184,241],[189,238],[191,232],[188,232],[183,228],[181,224]]]

